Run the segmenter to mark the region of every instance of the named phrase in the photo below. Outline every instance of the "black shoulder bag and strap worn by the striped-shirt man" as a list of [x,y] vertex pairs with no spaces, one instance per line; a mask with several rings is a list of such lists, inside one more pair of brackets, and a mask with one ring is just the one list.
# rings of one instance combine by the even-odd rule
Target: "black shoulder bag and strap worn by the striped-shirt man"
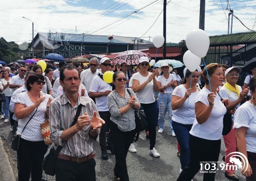
[[[72,122],[70,127],[72,127],[76,124],[78,116],[81,113],[81,110],[82,110],[82,104],[80,104],[78,106],[77,111],[76,111],[76,115],[74,117],[74,121]],[[65,141],[65,143],[66,143],[66,141]],[[64,143],[64,145],[65,145],[65,143]],[[48,154],[46,154],[46,156],[44,158],[44,161],[42,161],[42,170],[45,171],[45,174],[48,174],[49,176],[54,176],[55,175],[55,173],[56,173],[56,170],[55,170],[56,160],[57,160],[59,152],[62,150],[63,146],[59,145],[56,150],[54,149],[53,145],[51,146],[50,151],[48,152]]]

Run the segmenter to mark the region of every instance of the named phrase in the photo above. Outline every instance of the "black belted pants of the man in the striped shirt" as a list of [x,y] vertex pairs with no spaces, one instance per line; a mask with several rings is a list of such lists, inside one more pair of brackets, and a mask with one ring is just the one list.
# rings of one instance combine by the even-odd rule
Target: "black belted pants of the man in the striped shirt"
[[82,163],[57,159],[56,181],[95,181],[95,165],[94,158]]

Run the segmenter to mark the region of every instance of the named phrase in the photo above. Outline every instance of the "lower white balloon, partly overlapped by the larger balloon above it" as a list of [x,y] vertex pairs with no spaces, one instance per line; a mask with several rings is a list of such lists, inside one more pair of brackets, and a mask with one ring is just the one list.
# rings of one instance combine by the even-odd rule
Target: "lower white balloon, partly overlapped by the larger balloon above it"
[[198,66],[201,63],[201,58],[197,57],[197,55],[191,53],[190,51],[186,51],[183,55],[183,63],[191,72],[197,70]]

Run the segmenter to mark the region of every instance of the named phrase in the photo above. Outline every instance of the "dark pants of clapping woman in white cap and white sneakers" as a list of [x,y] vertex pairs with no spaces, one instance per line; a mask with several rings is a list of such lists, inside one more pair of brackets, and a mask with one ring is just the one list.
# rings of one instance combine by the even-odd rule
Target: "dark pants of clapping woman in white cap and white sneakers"
[[150,147],[149,149],[153,149],[156,144],[156,110],[155,110],[155,103],[150,104],[142,104],[142,108],[144,109],[145,116],[147,117],[148,123],[148,130],[149,130],[149,142]]

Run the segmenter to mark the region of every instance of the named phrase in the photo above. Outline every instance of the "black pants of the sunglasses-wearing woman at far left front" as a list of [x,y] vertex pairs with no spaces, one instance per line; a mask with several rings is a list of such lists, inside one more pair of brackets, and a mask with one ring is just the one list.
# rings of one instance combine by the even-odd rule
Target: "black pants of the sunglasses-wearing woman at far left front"
[[28,141],[21,138],[17,151],[19,181],[29,180],[30,175],[32,181],[41,180],[42,160],[47,148],[44,141]]

